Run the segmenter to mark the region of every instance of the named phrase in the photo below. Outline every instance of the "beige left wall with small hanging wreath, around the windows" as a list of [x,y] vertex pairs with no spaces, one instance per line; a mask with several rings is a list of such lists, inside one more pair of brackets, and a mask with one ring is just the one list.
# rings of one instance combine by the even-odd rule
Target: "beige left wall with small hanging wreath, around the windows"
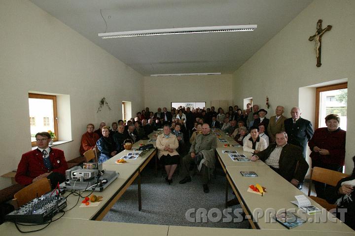
[[[143,76],[27,0],[0,0],[0,174],[31,150],[28,92],[70,96],[72,142],[56,146],[79,156],[86,124],[122,117],[122,101],[143,108]],[[112,110],[96,113],[106,97]],[[59,124],[60,125],[60,124]],[[10,184],[1,177],[0,189]]]

